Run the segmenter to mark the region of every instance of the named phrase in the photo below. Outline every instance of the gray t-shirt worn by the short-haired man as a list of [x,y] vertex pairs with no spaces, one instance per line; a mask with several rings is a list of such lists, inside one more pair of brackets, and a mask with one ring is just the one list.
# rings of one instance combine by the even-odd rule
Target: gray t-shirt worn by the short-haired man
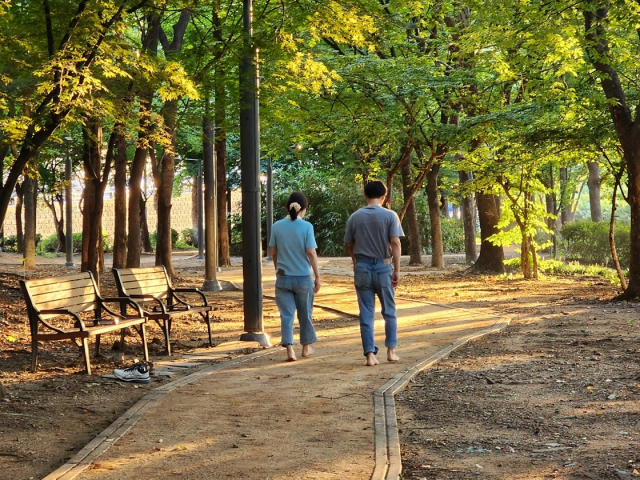
[[353,252],[371,258],[390,258],[392,237],[404,237],[400,218],[393,210],[367,205],[347,220],[344,242],[353,243]]

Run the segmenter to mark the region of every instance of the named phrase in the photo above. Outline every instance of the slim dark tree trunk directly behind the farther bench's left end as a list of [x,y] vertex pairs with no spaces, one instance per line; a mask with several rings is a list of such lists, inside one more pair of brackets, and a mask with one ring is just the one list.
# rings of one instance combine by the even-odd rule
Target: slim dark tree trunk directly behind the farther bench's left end
[[127,265],[127,143],[124,135],[116,138],[113,201],[113,268],[124,268]]

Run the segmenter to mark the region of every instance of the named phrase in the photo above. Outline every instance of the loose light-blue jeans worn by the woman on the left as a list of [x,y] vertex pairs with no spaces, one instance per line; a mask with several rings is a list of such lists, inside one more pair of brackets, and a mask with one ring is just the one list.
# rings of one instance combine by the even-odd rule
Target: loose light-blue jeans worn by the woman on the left
[[293,317],[298,311],[300,343],[309,345],[318,340],[311,322],[313,313],[314,282],[311,275],[297,277],[278,275],[276,277],[276,305],[280,311],[281,344],[293,345]]

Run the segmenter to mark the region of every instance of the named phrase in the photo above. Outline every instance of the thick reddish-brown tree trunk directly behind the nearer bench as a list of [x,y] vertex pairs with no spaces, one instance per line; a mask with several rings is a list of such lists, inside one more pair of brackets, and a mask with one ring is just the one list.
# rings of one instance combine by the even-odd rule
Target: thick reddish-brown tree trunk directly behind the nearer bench
[[[100,182],[102,159],[102,125],[91,118],[82,129],[84,147],[84,208],[82,210],[82,260],[80,271],[91,272],[100,284],[101,267],[104,265],[102,245],[102,188]],[[115,141],[115,139],[113,140]],[[111,155],[113,152],[111,152]]]

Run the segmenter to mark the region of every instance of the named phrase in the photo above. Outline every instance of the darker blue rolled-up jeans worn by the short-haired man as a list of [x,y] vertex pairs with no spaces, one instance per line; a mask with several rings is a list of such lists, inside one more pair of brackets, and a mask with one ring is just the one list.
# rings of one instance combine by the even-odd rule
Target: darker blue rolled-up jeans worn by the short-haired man
[[353,283],[358,295],[360,307],[360,337],[365,356],[367,353],[378,353],[373,336],[376,295],[382,306],[384,318],[384,345],[396,348],[398,344],[398,321],[396,318],[396,302],[394,289],[391,286],[391,265],[376,258],[356,258]]

